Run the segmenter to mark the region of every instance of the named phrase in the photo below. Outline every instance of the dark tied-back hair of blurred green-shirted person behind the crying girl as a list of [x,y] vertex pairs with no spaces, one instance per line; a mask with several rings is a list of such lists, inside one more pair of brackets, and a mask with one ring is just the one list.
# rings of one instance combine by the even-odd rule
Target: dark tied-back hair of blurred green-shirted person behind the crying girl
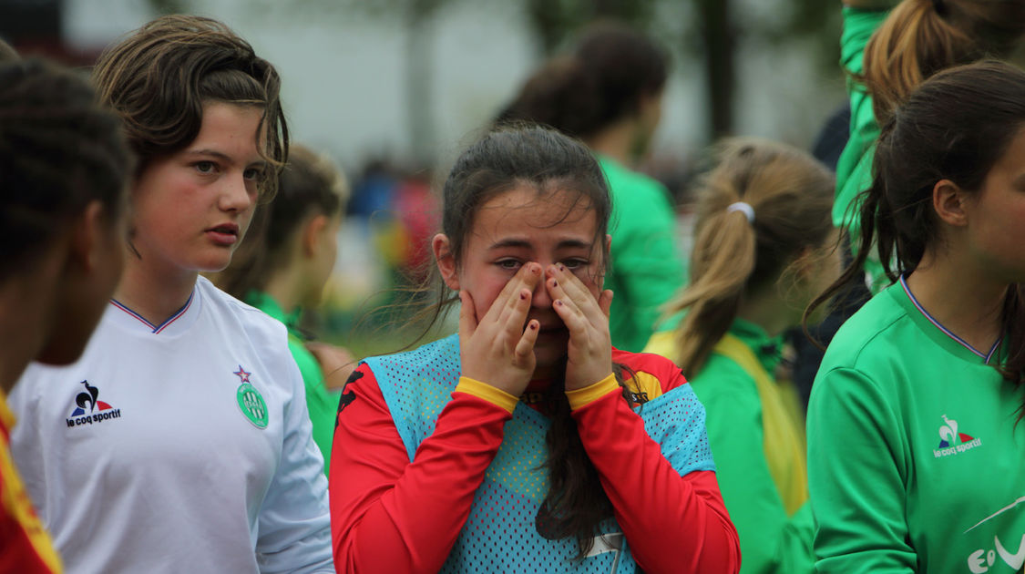
[[637,114],[643,97],[660,93],[667,66],[665,52],[644,35],[600,23],[571,54],[531,76],[498,121],[537,122],[586,139]]

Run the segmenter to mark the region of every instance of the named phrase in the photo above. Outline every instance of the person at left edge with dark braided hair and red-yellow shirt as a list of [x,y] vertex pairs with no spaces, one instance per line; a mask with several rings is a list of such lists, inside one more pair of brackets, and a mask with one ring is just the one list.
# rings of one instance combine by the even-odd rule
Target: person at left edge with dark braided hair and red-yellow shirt
[[121,276],[132,159],[85,79],[16,61],[3,42],[0,54],[0,572],[56,573],[7,450],[5,396],[30,361],[66,365],[85,348]]

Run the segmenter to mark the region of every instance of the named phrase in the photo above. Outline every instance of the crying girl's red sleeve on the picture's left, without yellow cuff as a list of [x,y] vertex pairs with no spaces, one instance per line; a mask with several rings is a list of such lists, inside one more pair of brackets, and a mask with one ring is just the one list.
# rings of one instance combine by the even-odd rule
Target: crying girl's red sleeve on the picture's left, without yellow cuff
[[331,449],[335,569],[438,572],[510,417],[498,405],[453,393],[410,462],[376,378],[360,365],[342,393]]

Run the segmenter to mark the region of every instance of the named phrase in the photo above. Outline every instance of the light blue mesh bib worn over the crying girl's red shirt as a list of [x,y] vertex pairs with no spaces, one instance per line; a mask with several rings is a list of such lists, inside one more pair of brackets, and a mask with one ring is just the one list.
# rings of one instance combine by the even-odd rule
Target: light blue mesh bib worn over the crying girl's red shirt
[[[420,442],[434,433],[438,415],[459,382],[458,336],[366,362],[377,378],[412,461]],[[661,445],[663,456],[681,475],[714,469],[705,435],[704,408],[689,384],[637,410],[648,435]],[[637,571],[625,541],[612,544],[622,546],[620,549],[576,561],[576,539],[547,540],[537,533],[537,509],[548,488],[545,473],[538,469],[546,456],[547,428],[546,417],[526,405],[517,406],[442,572]],[[602,532],[619,533],[621,529],[609,520]]]

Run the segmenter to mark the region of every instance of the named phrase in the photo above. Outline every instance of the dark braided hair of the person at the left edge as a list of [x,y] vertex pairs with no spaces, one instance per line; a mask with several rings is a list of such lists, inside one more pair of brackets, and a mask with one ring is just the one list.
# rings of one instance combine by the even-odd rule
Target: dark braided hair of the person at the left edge
[[40,60],[0,65],[0,280],[90,202],[117,221],[132,166],[117,116],[84,78]]

